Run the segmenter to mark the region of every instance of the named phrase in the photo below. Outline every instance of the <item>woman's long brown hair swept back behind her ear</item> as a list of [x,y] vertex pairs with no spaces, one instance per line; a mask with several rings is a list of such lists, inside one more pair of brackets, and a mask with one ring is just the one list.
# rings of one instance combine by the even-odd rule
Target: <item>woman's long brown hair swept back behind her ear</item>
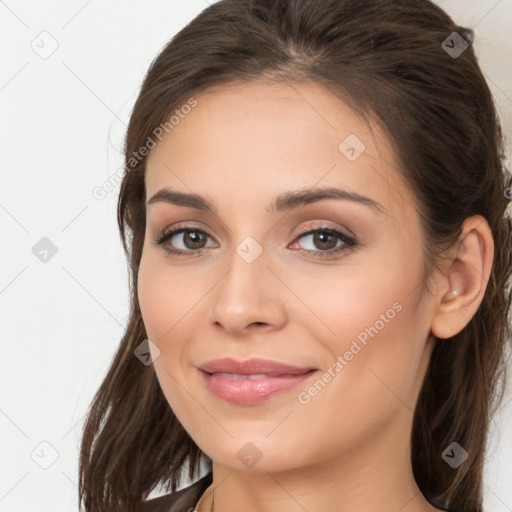
[[[130,317],[83,429],[79,499],[87,512],[136,512],[157,485],[174,492],[186,466],[190,479],[203,464],[211,469],[153,367],[134,356],[147,338],[137,301],[146,221],[141,148],[194,94],[262,79],[322,84],[381,123],[417,199],[427,274],[464,219],[487,220],[496,250],[482,304],[459,334],[436,343],[411,439],[425,497],[450,512],[482,511],[488,425],[502,399],[510,337],[512,225],[501,128],[472,42],[470,29],[429,0],[220,0],[164,47],[125,139],[118,223]],[[441,457],[453,441],[468,453],[457,470]]]

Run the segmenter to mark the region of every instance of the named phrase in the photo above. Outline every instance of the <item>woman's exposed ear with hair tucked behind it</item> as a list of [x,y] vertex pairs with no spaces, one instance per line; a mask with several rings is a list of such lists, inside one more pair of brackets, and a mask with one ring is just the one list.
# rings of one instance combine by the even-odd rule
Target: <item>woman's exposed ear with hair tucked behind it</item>
[[437,338],[455,336],[473,318],[484,297],[493,258],[494,240],[489,224],[480,215],[467,218],[437,283],[431,325]]

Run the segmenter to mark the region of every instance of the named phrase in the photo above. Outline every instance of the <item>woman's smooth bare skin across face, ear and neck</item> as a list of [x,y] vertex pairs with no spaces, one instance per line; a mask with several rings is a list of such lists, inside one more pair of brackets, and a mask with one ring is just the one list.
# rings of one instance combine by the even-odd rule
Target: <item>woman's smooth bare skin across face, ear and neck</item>
[[[168,187],[205,197],[216,214],[147,205],[138,297],[160,351],[154,368],[162,390],[213,460],[215,510],[438,510],[413,478],[413,411],[432,334],[455,335],[482,301],[494,250],[487,222],[465,221],[429,293],[418,200],[377,124],[311,83],[231,84],[195,98],[148,157],[146,199]],[[349,134],[366,146],[353,161],[339,149]],[[380,209],[347,199],[268,209],[283,193],[327,186]],[[182,231],[154,243],[183,224],[202,238]],[[355,236],[356,247],[336,236],[300,236],[325,227]],[[251,263],[237,253],[247,237],[262,250]],[[197,369],[218,357],[262,357],[322,374],[395,303],[400,312],[307,404],[298,394],[314,382],[235,405],[212,395]],[[249,442],[261,454],[251,467],[238,456]],[[446,463],[441,454],[436,462]],[[210,510],[205,498],[199,512]]]

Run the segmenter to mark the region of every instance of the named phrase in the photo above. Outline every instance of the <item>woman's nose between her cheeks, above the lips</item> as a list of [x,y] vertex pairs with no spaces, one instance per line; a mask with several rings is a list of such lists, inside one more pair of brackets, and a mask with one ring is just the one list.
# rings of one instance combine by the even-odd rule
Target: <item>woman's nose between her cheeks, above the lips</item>
[[241,336],[285,325],[290,291],[272,270],[265,251],[252,262],[233,251],[225,269],[210,295],[210,319],[215,326]]

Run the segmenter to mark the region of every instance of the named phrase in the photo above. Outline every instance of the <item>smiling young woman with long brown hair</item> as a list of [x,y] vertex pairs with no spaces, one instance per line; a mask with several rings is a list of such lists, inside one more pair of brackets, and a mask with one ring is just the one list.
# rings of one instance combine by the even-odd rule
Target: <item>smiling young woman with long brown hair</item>
[[511,222],[471,41],[428,0],[221,0],[163,49],[87,512],[482,511]]

